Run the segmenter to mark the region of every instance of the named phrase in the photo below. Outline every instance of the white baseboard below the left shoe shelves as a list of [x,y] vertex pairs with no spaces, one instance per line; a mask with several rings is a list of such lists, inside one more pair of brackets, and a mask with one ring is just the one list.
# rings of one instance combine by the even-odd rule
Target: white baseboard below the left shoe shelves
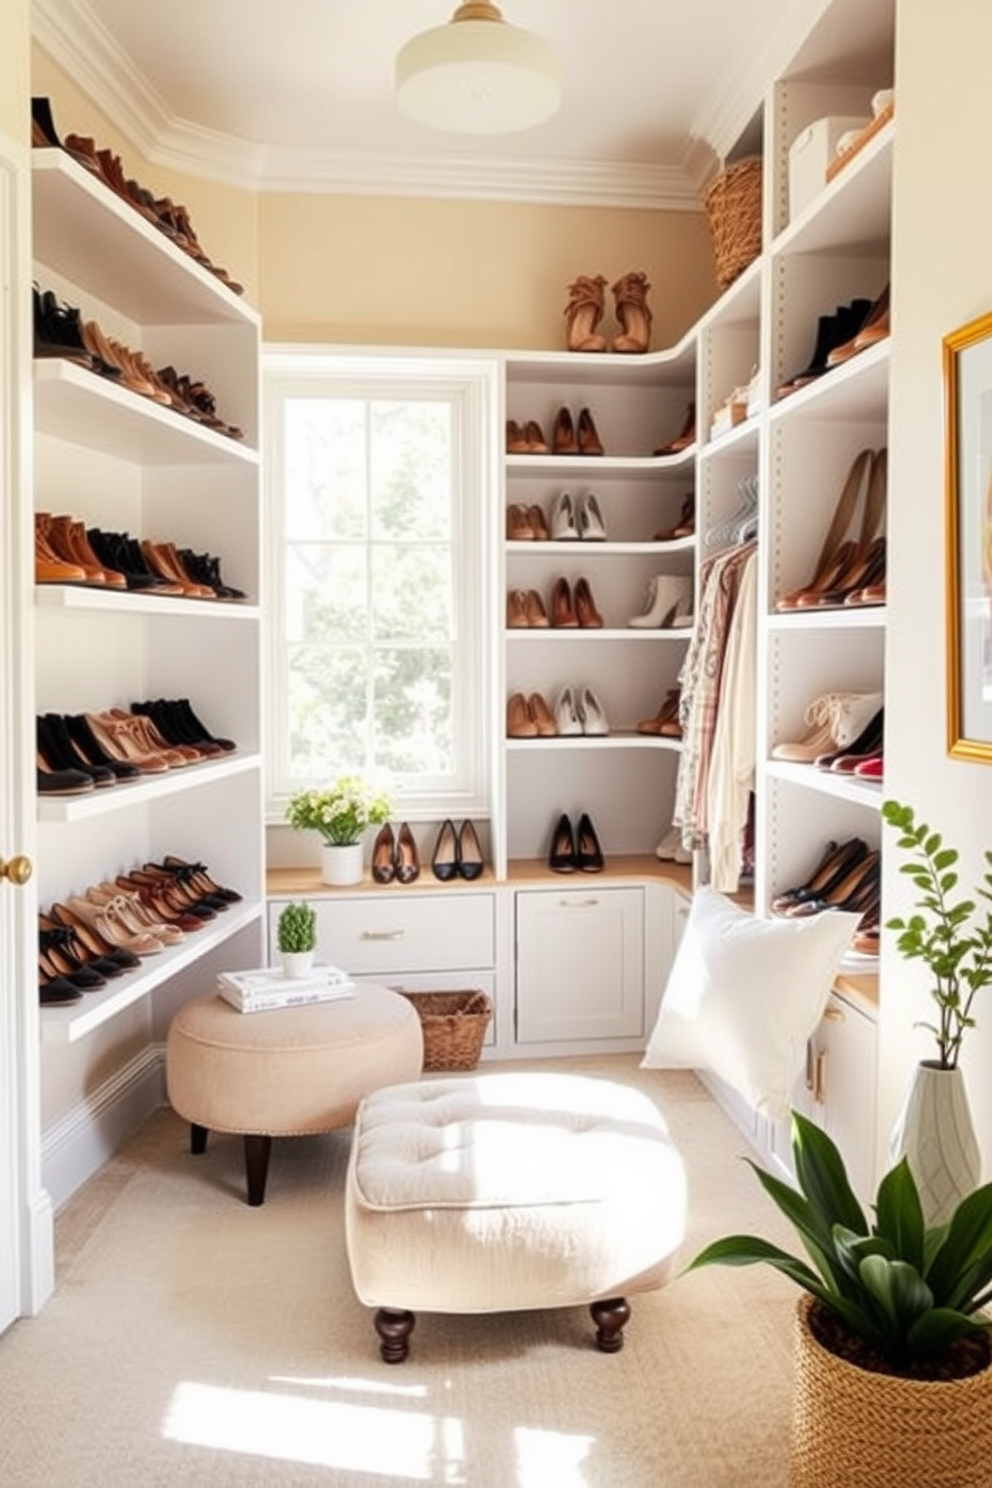
[[42,1183],[58,1210],[165,1106],[165,1048],[149,1045],[42,1134]]

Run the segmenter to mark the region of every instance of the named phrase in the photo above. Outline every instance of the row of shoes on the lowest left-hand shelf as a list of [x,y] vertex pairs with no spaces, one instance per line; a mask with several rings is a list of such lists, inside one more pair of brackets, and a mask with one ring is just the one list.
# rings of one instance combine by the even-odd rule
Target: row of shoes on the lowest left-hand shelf
[[204,863],[168,854],[51,905],[39,914],[42,1007],[67,1007],[100,991],[241,897],[214,882]]

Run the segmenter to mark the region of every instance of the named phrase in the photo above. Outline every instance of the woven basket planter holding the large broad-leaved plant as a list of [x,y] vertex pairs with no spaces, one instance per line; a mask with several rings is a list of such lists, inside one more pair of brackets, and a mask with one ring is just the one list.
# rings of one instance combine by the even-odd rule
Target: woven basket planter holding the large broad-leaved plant
[[967,1379],[876,1375],[837,1359],[796,1309],[790,1488],[992,1484],[992,1366]]

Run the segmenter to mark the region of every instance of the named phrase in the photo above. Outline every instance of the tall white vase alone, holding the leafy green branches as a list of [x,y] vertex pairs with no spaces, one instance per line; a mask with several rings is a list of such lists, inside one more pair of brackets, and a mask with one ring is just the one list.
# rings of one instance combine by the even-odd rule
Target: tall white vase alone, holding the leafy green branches
[[919,1189],[924,1222],[943,1225],[982,1180],[982,1153],[974,1134],[961,1070],[916,1065],[892,1128],[889,1158],[909,1158]]

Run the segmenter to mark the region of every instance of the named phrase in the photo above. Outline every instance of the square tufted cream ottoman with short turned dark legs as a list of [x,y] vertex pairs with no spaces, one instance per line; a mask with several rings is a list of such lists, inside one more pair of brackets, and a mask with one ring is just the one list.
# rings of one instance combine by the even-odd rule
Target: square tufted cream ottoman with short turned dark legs
[[626,1295],[662,1286],[686,1177],[653,1101],[611,1080],[492,1073],[367,1095],[355,1117],[345,1234],[379,1354],[400,1363],[415,1311],[589,1303],[623,1347]]

